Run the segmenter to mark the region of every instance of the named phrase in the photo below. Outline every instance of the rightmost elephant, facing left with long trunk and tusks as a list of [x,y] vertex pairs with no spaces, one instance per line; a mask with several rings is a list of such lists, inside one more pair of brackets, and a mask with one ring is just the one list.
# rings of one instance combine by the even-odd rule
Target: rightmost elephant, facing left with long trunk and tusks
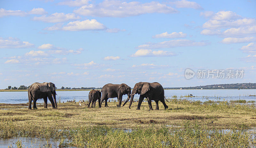
[[[148,82],[139,82],[136,83],[132,90],[131,100],[129,108],[131,108],[133,97],[135,94],[140,94],[139,103],[137,106],[137,109],[140,109],[140,105],[144,98],[148,99],[148,106],[149,110],[153,110],[151,100],[154,100],[156,102],[156,110],[159,110],[158,101],[161,101],[164,105],[164,109],[167,109],[168,106],[164,102],[164,88],[161,84],[154,82],[154,83],[148,83]],[[124,105],[128,102],[129,99],[127,99],[124,102]],[[167,101],[167,100],[166,100]],[[168,102],[168,101],[167,101]],[[123,105],[123,106],[124,106]]]

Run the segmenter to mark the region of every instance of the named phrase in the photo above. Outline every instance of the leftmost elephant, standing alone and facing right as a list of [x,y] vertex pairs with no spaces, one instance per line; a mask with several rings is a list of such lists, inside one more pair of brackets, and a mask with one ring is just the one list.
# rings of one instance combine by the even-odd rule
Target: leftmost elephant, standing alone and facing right
[[47,97],[52,103],[52,108],[57,109],[56,95],[56,87],[52,82],[33,83],[28,88],[28,109],[31,109],[32,101],[33,109],[37,109],[36,100],[42,98],[44,99],[44,108],[47,108]]

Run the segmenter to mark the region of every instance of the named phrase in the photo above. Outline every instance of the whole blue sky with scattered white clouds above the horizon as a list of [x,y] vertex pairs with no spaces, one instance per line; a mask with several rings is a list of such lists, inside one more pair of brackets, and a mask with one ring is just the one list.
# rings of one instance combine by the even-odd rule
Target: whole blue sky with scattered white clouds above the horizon
[[[256,1],[1,0],[0,88],[256,82]],[[184,71],[244,70],[242,79]]]

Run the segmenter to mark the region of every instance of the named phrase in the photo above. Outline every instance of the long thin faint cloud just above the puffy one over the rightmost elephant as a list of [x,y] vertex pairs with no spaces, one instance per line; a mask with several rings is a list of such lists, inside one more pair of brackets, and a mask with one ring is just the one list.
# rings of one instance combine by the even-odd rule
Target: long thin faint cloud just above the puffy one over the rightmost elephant
[[174,48],[174,47],[186,47],[186,46],[205,46],[208,45],[208,42],[194,42],[191,40],[170,40],[159,43],[147,43],[138,46],[138,49],[157,49],[157,48]]

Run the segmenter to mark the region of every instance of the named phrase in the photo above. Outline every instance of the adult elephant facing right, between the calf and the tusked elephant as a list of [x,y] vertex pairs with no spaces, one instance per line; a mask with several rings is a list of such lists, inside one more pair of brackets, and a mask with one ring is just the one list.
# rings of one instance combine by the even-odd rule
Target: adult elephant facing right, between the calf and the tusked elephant
[[123,95],[131,95],[131,87],[122,83],[122,84],[111,84],[108,83],[104,85],[101,89],[102,95],[101,95],[101,101],[100,101],[100,107],[102,102],[105,100],[105,107],[108,106],[108,98],[114,98],[117,97],[119,104],[118,107],[121,107],[122,98]]

